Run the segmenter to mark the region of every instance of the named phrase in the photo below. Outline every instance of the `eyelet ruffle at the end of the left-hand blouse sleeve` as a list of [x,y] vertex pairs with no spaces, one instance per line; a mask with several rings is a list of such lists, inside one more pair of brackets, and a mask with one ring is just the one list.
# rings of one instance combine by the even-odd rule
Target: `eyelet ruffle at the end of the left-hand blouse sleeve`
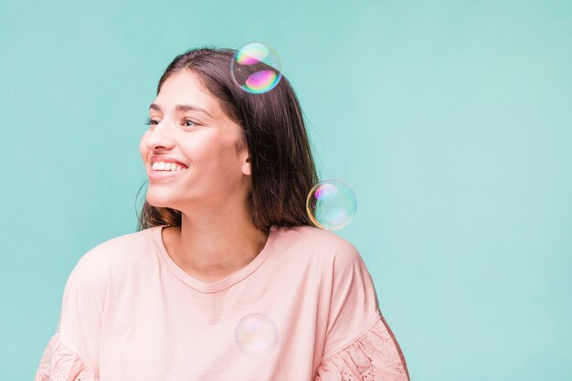
[[34,381],[99,381],[100,377],[83,363],[81,357],[61,344],[59,333],[48,342]]

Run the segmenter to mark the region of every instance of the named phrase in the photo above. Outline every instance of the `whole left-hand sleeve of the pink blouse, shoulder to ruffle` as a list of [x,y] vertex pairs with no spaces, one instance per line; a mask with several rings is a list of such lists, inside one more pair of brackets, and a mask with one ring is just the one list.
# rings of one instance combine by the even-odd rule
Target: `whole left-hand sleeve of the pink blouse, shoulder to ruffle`
[[58,329],[40,358],[34,381],[99,380],[101,321],[108,272],[101,250],[88,251],[71,271]]

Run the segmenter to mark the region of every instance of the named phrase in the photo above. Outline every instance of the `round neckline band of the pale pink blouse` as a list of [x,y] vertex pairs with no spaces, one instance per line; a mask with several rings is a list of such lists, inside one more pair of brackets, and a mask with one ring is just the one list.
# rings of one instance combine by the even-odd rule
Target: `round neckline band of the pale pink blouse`
[[210,292],[217,292],[228,289],[228,287],[238,283],[238,281],[245,279],[248,277],[252,272],[257,270],[264,259],[266,259],[272,247],[274,246],[275,236],[276,236],[276,226],[270,227],[268,238],[266,239],[266,243],[264,248],[260,250],[259,255],[256,256],[255,259],[252,259],[248,265],[243,267],[240,270],[237,270],[228,277],[217,280],[214,283],[205,283],[202,280],[197,280],[196,278],[192,277],[190,274],[186,273],[185,270],[181,269],[175,261],[169,256],[166,247],[164,246],[163,241],[163,229],[169,227],[169,225],[159,225],[156,227],[151,228],[152,238],[154,242],[154,247],[159,254],[159,258],[163,260],[164,264],[166,265],[167,269],[170,270],[175,277],[179,280],[182,280],[188,286],[192,287],[196,291],[201,291],[205,293]]

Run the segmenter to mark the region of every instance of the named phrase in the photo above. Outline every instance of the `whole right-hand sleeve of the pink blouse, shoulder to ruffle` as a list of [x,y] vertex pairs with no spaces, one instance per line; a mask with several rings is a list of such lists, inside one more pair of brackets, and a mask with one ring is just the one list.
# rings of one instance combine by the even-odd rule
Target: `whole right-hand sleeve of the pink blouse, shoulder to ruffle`
[[405,357],[353,245],[338,245],[331,273],[329,318],[314,381],[408,381]]

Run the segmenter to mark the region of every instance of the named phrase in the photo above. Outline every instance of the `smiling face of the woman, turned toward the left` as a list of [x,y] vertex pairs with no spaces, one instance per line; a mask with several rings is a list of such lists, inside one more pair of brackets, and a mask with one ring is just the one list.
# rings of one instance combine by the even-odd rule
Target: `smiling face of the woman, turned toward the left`
[[169,156],[186,166],[175,174],[159,172],[164,176],[149,178],[149,204],[185,212],[193,206],[224,209],[244,201],[250,165],[243,132],[194,72],[185,69],[166,79],[149,117],[151,125],[139,144],[147,175],[153,171],[152,155]]

